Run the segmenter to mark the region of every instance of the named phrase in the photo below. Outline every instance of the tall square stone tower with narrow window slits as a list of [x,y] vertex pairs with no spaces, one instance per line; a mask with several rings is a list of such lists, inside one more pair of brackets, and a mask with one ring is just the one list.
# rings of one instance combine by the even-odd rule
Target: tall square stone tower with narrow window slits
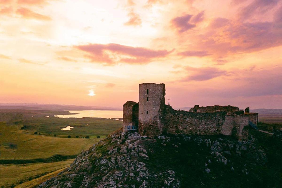
[[162,134],[166,89],[163,83],[139,84],[138,132],[154,137]]

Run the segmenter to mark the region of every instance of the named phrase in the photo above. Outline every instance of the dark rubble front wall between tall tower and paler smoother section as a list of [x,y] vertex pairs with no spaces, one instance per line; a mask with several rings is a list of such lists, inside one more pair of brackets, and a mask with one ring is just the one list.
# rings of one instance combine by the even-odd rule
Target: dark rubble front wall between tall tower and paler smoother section
[[221,134],[226,112],[194,113],[174,110],[166,105],[164,133],[169,134]]

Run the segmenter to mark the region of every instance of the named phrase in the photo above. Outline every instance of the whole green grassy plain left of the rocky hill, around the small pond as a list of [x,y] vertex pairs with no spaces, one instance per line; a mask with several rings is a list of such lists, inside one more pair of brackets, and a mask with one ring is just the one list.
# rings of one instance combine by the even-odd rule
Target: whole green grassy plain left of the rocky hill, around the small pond
[[[56,171],[69,166],[74,159],[18,165],[12,164],[13,162],[25,163],[38,161],[38,159],[53,159],[54,155],[75,156],[122,127],[122,121],[118,120],[54,117],[59,114],[69,113],[50,110],[1,110],[0,160],[11,163],[0,165],[1,187],[14,185],[29,187],[34,183],[36,185],[56,175]],[[74,128],[72,131],[60,130],[66,126]]]

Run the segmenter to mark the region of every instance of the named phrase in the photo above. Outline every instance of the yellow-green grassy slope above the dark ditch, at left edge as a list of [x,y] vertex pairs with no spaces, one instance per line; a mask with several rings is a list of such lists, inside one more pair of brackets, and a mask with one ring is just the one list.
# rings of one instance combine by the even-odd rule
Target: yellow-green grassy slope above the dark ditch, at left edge
[[[100,140],[26,134],[20,126],[7,126],[1,123],[1,159],[49,158],[54,154],[75,155]],[[11,144],[15,147],[11,148]]]

